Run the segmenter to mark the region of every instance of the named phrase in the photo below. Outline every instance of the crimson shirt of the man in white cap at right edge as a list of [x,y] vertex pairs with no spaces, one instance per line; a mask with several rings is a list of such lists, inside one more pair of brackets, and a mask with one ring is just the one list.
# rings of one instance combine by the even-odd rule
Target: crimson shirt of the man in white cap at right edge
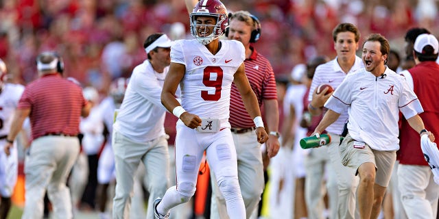
[[[420,62],[413,68],[409,69],[410,75],[413,77],[414,92],[418,96],[420,104],[423,105],[424,112],[419,114],[423,119],[425,129],[439,135],[439,65],[436,62]],[[398,158],[400,164],[423,165],[425,162],[423,151],[420,149],[419,133],[414,131],[403,119],[400,129],[400,149]],[[436,144],[439,143],[436,138]]]

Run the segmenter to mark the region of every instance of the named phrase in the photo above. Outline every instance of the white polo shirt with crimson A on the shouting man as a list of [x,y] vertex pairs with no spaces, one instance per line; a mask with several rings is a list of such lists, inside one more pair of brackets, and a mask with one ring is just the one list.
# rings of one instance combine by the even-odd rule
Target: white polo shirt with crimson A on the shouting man
[[390,68],[375,77],[365,68],[346,76],[324,104],[337,113],[348,110],[351,137],[377,151],[399,149],[399,111],[405,118],[423,112],[418,97],[404,77]]

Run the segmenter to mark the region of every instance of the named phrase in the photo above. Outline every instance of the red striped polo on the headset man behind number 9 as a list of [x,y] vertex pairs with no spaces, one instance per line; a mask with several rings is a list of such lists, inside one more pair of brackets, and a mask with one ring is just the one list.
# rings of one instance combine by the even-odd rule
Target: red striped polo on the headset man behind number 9
[[[257,96],[260,107],[263,99],[277,99],[276,81],[270,62],[253,47],[250,49],[253,50],[253,53],[250,58],[244,61],[244,65],[248,81]],[[230,92],[230,118],[228,120],[230,125],[235,128],[254,127],[253,118],[248,115],[235,83],[232,83]]]

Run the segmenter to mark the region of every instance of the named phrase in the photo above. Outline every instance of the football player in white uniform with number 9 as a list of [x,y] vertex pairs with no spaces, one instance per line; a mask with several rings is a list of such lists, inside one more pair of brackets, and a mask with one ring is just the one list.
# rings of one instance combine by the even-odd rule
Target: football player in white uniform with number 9
[[[193,40],[177,40],[161,95],[169,112],[179,118],[176,129],[176,186],[154,201],[155,218],[168,218],[169,209],[186,203],[195,193],[204,151],[215,172],[230,218],[246,218],[239,189],[237,155],[230,131],[232,82],[254,120],[257,139],[268,140],[257,97],[244,72],[245,49],[236,40],[219,40],[228,26],[228,13],[219,0],[202,0],[189,14]],[[181,85],[181,105],[175,92]]]

